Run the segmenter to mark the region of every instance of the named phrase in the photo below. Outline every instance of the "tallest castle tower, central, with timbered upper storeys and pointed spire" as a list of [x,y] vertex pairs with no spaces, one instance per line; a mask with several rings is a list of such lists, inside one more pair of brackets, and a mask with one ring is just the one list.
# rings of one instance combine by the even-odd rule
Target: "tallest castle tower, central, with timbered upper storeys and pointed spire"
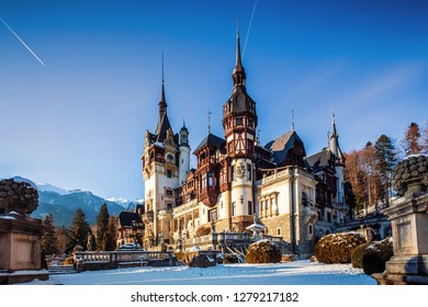
[[[228,156],[227,173],[232,180],[229,214],[239,225],[239,217],[255,214],[252,186],[257,127],[256,102],[248,95],[245,87],[247,76],[240,57],[239,30],[236,36],[236,62],[232,79],[234,82],[232,95],[223,106],[223,128]],[[241,231],[239,228],[241,227],[236,230]]]

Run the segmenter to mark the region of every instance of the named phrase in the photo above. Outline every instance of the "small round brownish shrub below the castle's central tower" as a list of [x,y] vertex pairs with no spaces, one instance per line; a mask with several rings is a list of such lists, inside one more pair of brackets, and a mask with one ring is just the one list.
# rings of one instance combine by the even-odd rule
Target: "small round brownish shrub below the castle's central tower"
[[260,240],[249,246],[247,263],[277,263],[282,258],[281,249],[269,240]]

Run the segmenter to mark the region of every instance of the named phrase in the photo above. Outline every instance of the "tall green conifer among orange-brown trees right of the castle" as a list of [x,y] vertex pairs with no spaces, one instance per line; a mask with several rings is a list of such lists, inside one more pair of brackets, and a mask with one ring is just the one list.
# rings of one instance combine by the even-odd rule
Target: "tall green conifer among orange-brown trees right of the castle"
[[381,179],[381,191],[383,203],[390,205],[391,172],[396,163],[395,141],[381,135],[374,144],[375,167]]

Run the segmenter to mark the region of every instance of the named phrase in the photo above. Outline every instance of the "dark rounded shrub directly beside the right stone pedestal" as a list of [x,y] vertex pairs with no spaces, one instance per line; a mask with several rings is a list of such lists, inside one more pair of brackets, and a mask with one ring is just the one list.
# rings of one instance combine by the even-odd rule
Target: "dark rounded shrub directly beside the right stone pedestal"
[[352,252],[352,266],[363,269],[364,273],[382,273],[385,271],[385,262],[393,255],[393,242],[391,238],[358,247]]

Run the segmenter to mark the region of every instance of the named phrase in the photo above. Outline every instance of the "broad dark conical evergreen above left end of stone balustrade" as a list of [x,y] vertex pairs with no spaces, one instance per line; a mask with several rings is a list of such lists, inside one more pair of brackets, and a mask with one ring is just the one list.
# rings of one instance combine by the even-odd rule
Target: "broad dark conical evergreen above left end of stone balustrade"
[[87,250],[89,236],[92,236],[92,231],[87,221],[86,214],[81,208],[78,208],[69,228],[66,252],[72,251],[75,247],[81,247],[83,250]]

